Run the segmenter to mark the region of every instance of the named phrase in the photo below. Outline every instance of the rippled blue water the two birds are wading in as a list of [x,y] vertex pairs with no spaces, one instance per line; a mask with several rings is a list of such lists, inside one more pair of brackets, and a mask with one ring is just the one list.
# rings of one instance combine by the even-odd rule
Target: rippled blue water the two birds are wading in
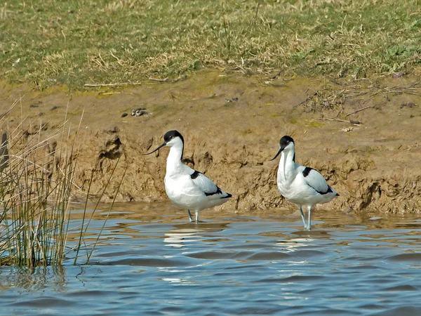
[[0,268],[0,315],[421,315],[420,215],[313,216],[118,206],[90,265]]

